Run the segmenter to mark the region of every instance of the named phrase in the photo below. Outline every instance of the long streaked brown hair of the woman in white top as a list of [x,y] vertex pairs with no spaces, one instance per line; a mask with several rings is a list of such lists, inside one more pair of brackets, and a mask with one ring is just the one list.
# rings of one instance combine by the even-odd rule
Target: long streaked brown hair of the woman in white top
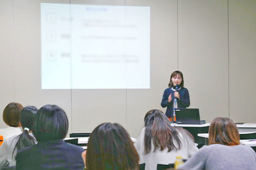
[[[157,148],[164,150],[168,148],[168,152],[181,148],[181,140],[178,137],[178,130],[175,127],[172,127],[169,119],[166,115],[159,109],[155,109],[147,117],[148,121],[145,127],[145,154],[151,151],[151,142],[154,144],[154,151]],[[152,140],[152,141],[151,141]],[[174,145],[176,141],[177,145]]]

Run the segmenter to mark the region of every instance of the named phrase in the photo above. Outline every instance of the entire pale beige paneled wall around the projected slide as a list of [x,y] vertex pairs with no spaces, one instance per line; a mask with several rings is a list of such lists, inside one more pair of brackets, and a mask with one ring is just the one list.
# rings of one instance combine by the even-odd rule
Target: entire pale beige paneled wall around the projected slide
[[[40,2],[150,6],[151,88],[42,90]],[[255,8],[254,0],[1,0],[0,115],[11,101],[57,104],[69,132],[110,121],[137,137],[149,109],[165,111],[162,94],[179,69],[202,119],[256,122]]]

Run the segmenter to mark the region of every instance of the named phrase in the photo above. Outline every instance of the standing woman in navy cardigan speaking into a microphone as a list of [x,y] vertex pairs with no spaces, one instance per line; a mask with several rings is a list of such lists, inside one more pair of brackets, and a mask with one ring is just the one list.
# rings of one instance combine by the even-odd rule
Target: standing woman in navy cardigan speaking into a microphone
[[188,89],[184,87],[184,79],[181,71],[176,70],[171,74],[168,86],[164,91],[161,106],[167,107],[165,114],[172,121],[173,108],[188,107],[190,105],[190,99]]

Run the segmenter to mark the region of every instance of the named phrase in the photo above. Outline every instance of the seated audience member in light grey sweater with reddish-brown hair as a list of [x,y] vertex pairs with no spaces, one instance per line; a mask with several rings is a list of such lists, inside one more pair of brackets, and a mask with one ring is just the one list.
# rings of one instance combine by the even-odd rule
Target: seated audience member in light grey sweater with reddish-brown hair
[[256,153],[240,144],[238,129],[227,117],[215,118],[209,127],[209,145],[203,146],[178,169],[256,169]]

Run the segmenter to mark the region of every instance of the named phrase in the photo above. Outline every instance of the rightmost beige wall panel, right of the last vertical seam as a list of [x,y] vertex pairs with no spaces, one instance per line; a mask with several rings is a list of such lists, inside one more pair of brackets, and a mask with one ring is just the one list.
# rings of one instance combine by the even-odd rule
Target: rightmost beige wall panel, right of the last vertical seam
[[229,0],[229,113],[256,121],[256,1]]

